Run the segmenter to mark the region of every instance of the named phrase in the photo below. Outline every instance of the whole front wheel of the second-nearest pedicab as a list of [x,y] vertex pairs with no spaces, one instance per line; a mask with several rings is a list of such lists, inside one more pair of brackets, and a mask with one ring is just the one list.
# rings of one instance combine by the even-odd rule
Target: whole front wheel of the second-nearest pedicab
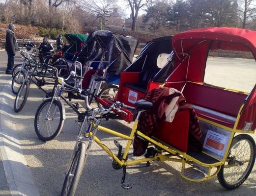
[[[39,105],[35,114],[35,133],[38,138],[43,141],[50,141],[56,138],[60,133],[64,123],[63,110],[60,101],[55,99],[50,108],[51,102],[52,99],[43,101]],[[46,116],[48,110],[49,115]]]

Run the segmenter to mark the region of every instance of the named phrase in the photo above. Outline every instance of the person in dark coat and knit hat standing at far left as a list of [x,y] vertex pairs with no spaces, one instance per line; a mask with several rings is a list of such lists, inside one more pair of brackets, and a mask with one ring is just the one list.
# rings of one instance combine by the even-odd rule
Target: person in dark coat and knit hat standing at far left
[[9,24],[8,28],[6,29],[5,50],[7,51],[8,55],[7,69],[5,71],[6,74],[12,73],[15,58],[15,50],[18,49],[18,44],[16,41],[16,37],[14,35],[14,29],[15,25],[13,24]]

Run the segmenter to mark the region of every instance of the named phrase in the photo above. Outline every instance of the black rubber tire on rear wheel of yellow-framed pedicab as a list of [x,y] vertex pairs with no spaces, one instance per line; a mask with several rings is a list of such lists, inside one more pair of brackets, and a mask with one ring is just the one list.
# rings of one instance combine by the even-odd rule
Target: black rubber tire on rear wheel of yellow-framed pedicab
[[[232,158],[230,158],[230,161],[228,162],[228,165],[230,165],[230,164],[234,164],[234,166],[232,167],[228,167],[228,165],[222,165],[222,167],[221,167],[221,170],[220,170],[220,172],[218,173],[218,180],[219,180],[219,182],[220,182],[220,184],[224,187],[224,188],[226,188],[226,189],[228,189],[228,190],[232,190],[232,189],[236,189],[236,188],[238,188],[241,184],[243,184],[244,183],[244,181],[248,178],[248,176],[250,175],[250,173],[251,173],[251,171],[252,171],[252,169],[253,169],[253,167],[254,167],[254,163],[255,163],[255,158],[256,158],[256,145],[255,145],[255,141],[254,141],[254,139],[250,136],[250,135],[248,135],[248,134],[239,134],[239,135],[237,135],[237,136],[235,136],[234,138],[233,138],[233,141],[232,141],[232,143],[231,143],[231,146],[230,146],[230,149],[229,149],[229,153],[228,153],[228,156],[230,156],[230,155],[232,155],[232,149],[234,149],[234,151],[235,151],[235,148],[237,148],[237,147],[239,147],[240,146],[240,144],[241,144],[241,142],[242,141],[247,141],[248,142],[248,144],[249,144],[249,146],[250,146],[250,150],[251,150],[251,153],[250,153],[250,159],[249,159],[249,164],[248,164],[248,166],[246,167],[246,171],[241,175],[241,177],[239,177],[238,179],[237,179],[237,181],[235,181],[235,182],[233,182],[233,183],[230,183],[230,182],[228,182],[228,175],[226,175],[226,174],[224,174],[224,172],[225,172],[225,170],[226,170],[226,168],[227,168],[227,170],[228,169],[230,169],[230,168],[235,168],[235,169],[237,169],[237,168],[239,168],[239,167],[243,167],[244,166],[244,163],[243,163],[243,165],[239,165],[239,164],[235,164],[235,162],[233,161],[232,162]],[[244,147],[245,145],[243,145],[243,147]],[[244,150],[239,150],[239,152],[241,152],[241,153],[243,153],[243,157],[244,157]],[[238,157],[236,157],[236,156],[238,156]],[[234,156],[233,156],[233,159],[237,159],[237,158],[239,158],[239,155],[238,155],[238,153],[234,153]],[[240,161],[240,160],[238,160],[238,161]],[[226,168],[225,168],[225,166],[226,166]],[[226,170],[226,171],[227,171]],[[240,170],[239,170],[239,172],[240,172]],[[238,173],[239,173],[238,172]],[[237,174],[237,172],[233,172],[232,171],[232,173],[230,174],[230,178],[231,179],[233,179],[234,178],[234,175],[235,174]]]

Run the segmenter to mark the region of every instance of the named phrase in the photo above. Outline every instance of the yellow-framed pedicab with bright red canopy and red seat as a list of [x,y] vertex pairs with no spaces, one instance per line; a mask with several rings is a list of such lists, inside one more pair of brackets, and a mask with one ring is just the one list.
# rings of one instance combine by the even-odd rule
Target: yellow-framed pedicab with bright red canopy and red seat
[[[201,150],[188,147],[193,145],[189,144],[190,129],[195,128],[190,125],[193,119],[188,108],[177,110],[172,122],[162,120],[155,124],[154,130],[148,135],[145,130],[139,130],[137,125],[140,115],[152,110],[154,105],[145,100],[137,101],[134,104],[139,113],[129,136],[100,126],[100,120],[96,118],[97,114],[104,115],[114,108],[119,110],[122,107],[120,102],[113,103],[109,109],[92,109],[92,114],[80,126],[61,195],[75,194],[93,141],[113,158],[114,169],[123,169],[121,186],[125,189],[131,188],[124,182],[126,167],[149,161],[180,162],[181,176],[190,181],[204,181],[217,175],[220,184],[226,189],[239,187],[252,171],[256,158],[255,141],[245,134],[255,133],[256,129],[256,86],[248,94],[206,85],[204,72],[209,49],[251,51],[256,57],[255,36],[256,31],[215,27],[186,31],[172,38],[175,63],[165,89],[175,87],[180,90],[195,109],[201,130]],[[87,128],[85,124],[88,124]],[[125,150],[114,141],[118,148],[118,154],[115,155],[96,136],[98,130],[127,140]],[[242,134],[234,137],[235,133]],[[88,139],[87,148],[82,142],[83,135]],[[147,152],[145,158],[129,159],[129,148],[134,136],[154,146],[154,150]]]

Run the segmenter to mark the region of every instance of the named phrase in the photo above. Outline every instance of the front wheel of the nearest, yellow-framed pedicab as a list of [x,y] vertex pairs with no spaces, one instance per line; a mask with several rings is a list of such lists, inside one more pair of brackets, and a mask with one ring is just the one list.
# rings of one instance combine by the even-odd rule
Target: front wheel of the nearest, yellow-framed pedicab
[[74,196],[85,165],[85,143],[81,142],[66,173],[60,196]]

